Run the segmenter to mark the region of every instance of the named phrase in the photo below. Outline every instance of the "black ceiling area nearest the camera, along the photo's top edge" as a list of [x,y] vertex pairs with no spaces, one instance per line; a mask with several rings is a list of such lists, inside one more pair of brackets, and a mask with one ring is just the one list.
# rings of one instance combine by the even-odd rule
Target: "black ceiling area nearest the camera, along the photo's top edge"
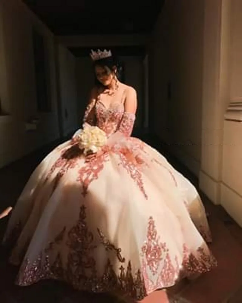
[[23,0],[55,35],[151,32],[164,0]]

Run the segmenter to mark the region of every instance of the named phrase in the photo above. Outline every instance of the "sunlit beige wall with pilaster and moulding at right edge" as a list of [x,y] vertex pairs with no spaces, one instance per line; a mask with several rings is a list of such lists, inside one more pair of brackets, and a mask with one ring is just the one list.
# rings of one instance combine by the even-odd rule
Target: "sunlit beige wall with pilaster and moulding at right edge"
[[[242,2],[206,0],[200,188],[242,226]],[[234,107],[233,102],[237,102]],[[227,111],[228,108],[236,111]],[[225,119],[226,117],[226,119]]]

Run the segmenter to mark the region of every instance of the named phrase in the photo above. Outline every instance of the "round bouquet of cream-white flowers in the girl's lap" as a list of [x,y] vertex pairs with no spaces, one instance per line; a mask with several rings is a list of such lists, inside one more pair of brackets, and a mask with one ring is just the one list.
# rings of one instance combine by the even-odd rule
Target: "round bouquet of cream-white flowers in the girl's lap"
[[97,126],[85,125],[77,135],[78,146],[84,155],[98,152],[107,142],[106,133]]

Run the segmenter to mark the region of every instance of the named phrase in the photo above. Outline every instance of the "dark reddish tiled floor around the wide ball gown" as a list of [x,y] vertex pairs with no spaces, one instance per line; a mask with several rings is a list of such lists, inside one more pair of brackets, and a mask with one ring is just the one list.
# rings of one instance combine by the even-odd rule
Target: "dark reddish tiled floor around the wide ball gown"
[[[189,175],[184,167],[170,157],[164,146],[152,145],[162,150],[170,162],[182,171],[192,182],[197,180]],[[31,171],[51,150],[53,145],[33,153],[28,157],[0,170],[0,212],[9,205],[14,205]],[[183,280],[168,290],[168,295],[181,296],[191,303],[242,303],[242,229],[223,211],[203,197],[209,214],[209,223],[213,234],[211,249],[218,260],[218,267],[194,281]],[[0,221],[0,237],[2,237],[7,218]],[[54,281],[43,281],[31,287],[14,285],[15,268],[5,262],[4,255],[0,259],[0,302],[1,303],[75,303],[75,302],[111,302],[105,295],[87,295],[74,291],[67,285]],[[187,302],[175,300],[174,302]],[[150,295],[144,303],[168,302],[163,291]]]

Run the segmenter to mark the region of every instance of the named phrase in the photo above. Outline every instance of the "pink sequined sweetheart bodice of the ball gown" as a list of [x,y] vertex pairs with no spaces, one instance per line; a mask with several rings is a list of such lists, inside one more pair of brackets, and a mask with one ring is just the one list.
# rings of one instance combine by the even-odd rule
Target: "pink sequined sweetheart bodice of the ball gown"
[[107,136],[118,130],[123,114],[123,104],[116,103],[111,108],[106,108],[101,101],[96,102],[96,123],[106,132]]

